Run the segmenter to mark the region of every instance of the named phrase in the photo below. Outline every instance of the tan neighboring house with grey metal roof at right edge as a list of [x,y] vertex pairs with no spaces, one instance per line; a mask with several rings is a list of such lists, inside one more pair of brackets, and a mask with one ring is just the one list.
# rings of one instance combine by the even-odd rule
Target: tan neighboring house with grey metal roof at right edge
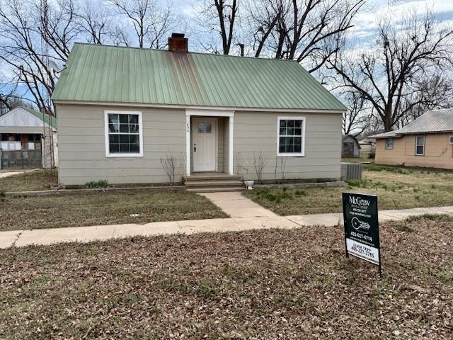
[[376,164],[453,169],[453,108],[432,110],[376,138]]

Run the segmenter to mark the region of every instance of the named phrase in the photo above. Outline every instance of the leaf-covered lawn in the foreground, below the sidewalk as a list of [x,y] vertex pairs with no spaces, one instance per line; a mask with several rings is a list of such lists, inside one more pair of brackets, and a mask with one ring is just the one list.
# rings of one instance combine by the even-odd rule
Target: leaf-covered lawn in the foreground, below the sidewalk
[[451,339],[453,222],[407,223],[382,279],[340,227],[0,250],[0,338]]

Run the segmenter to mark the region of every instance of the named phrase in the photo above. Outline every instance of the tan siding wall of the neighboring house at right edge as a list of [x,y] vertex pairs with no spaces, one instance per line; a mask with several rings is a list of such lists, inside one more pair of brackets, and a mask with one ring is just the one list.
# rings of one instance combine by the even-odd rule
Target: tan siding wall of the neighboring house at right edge
[[385,149],[385,139],[376,141],[376,164],[422,166],[453,169],[453,147],[449,136],[453,133],[425,135],[425,155],[415,156],[415,135],[394,138],[394,148]]

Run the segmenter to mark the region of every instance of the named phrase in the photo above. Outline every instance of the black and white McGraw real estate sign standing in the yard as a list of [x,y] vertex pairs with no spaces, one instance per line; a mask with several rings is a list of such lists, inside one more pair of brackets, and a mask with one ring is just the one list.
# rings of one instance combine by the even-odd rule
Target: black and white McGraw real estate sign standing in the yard
[[376,264],[382,276],[377,196],[343,193],[343,218],[346,257]]

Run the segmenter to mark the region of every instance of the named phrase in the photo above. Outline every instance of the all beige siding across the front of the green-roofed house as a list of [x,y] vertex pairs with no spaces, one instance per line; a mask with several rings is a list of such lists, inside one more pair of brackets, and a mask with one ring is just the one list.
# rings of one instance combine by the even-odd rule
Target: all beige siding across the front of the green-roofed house
[[[105,157],[104,111],[142,111],[143,157]],[[278,116],[306,117],[305,157],[277,156]],[[65,185],[107,179],[109,183],[168,182],[160,159],[171,152],[176,159],[176,181],[185,172],[185,111],[164,108],[57,105],[59,181]],[[229,118],[219,118],[218,167],[228,171]],[[336,179],[340,177],[341,115],[236,111],[234,116],[234,172],[256,179],[253,154],[262,152],[265,180]],[[248,175],[246,175],[248,171]]]

